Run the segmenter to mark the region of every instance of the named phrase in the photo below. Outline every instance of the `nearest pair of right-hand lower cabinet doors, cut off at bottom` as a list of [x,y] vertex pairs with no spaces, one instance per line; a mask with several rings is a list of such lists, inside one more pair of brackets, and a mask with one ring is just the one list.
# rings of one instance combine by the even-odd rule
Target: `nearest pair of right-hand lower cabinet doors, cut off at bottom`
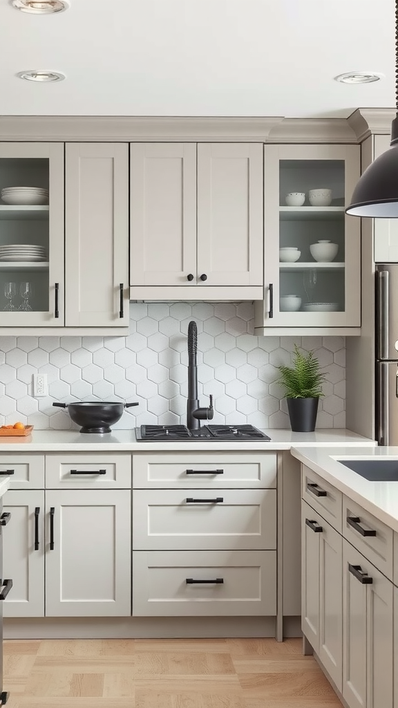
[[393,585],[343,540],[343,698],[393,706]]

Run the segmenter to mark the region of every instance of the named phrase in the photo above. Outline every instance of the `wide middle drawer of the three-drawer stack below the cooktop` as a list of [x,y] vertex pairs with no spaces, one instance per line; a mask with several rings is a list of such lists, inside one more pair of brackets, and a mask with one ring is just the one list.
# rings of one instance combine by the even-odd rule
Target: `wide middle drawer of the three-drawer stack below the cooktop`
[[275,489],[135,489],[132,500],[134,549],[276,549]]

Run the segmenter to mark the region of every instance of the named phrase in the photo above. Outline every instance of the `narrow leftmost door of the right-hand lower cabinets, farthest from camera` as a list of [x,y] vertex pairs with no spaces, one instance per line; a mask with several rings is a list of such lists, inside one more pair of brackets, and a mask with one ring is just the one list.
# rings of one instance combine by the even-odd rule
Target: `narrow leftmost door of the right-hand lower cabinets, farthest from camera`
[[319,537],[322,518],[302,502],[301,628],[315,653],[319,652]]

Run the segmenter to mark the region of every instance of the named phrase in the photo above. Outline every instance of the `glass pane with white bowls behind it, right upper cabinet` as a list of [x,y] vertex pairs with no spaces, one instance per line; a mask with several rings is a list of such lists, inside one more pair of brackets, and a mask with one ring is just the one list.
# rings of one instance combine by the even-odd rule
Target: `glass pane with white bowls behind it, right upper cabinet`
[[280,161],[281,312],[346,309],[344,190],[343,160]]

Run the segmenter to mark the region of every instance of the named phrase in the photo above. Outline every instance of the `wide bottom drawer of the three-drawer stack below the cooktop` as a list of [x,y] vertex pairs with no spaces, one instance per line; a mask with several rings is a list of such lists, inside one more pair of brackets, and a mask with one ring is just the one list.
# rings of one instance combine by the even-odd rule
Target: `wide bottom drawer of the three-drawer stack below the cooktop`
[[276,552],[135,551],[132,615],[276,615]]

